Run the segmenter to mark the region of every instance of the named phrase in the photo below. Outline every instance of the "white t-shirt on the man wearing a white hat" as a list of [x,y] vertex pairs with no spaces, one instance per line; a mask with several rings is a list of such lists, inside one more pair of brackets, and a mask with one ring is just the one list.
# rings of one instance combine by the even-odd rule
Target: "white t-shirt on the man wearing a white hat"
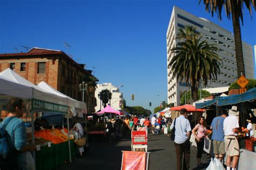
[[223,123],[223,130],[224,130],[225,136],[230,136],[230,135],[237,136],[237,133],[233,132],[234,128],[239,128],[237,116],[231,115],[226,117]]

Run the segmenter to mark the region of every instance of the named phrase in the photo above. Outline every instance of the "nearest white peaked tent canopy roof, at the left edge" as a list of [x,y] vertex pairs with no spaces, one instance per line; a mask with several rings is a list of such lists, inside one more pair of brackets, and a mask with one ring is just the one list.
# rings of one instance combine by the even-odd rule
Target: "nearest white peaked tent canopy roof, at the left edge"
[[[35,98],[37,100],[42,100],[61,105],[68,104],[68,98],[48,93],[47,91],[39,88],[35,84],[24,79],[22,76],[18,75],[10,68],[7,68],[3,72],[1,72],[0,77],[2,77],[1,82],[5,82],[4,84],[1,83],[0,94],[28,99]],[[6,82],[6,80],[10,82]],[[8,87],[8,84],[10,87]],[[17,88],[19,88],[20,90],[15,90]],[[19,95],[17,95],[17,93]]]

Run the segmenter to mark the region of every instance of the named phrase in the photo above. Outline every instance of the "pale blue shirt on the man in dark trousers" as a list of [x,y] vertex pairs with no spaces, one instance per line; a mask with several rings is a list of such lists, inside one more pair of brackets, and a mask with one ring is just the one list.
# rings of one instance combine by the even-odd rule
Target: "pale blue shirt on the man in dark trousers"
[[[171,129],[174,126],[174,121],[171,125]],[[175,139],[174,142],[177,144],[184,143],[187,139],[187,132],[191,131],[190,122],[183,115],[176,118],[175,123]]]

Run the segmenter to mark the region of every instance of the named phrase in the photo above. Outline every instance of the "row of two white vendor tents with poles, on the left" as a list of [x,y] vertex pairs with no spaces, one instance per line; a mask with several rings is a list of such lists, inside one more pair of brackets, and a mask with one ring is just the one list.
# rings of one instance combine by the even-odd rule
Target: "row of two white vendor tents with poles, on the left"
[[[30,114],[43,111],[55,111],[66,114],[69,107],[82,109],[84,114],[87,113],[86,103],[76,101],[73,98],[60,93],[45,82],[41,82],[36,86],[8,68],[0,73],[0,108],[2,108],[2,105],[7,104],[8,100],[12,97],[22,98],[27,104]],[[31,114],[31,119],[32,144],[35,144],[33,114]],[[69,129],[69,119],[67,119],[67,121]],[[69,141],[69,153],[70,152]],[[35,157],[35,152],[33,155]],[[71,161],[71,154],[69,158]]]

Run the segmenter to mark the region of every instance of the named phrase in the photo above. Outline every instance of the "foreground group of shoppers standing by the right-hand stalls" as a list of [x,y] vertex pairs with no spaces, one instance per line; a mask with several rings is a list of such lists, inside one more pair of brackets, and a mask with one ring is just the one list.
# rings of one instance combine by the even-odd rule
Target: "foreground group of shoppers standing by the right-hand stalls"
[[[237,107],[233,106],[228,113],[223,112],[220,116],[215,117],[211,123],[212,140],[213,140],[213,153],[215,158],[224,163],[224,155],[226,155],[226,169],[237,169],[239,160],[239,143],[238,133],[247,132],[247,129],[242,130],[239,128],[239,111]],[[190,168],[190,138],[197,143],[197,165],[203,168],[201,164],[201,157],[204,150],[204,140],[208,138],[205,117],[201,116],[198,119],[198,124],[191,130],[190,122],[187,119],[187,110],[181,109],[180,116],[176,118],[171,124],[171,128],[175,127],[174,146],[176,148],[177,169]],[[253,130],[248,124],[247,133],[252,137]],[[184,159],[182,159],[184,158]]]

